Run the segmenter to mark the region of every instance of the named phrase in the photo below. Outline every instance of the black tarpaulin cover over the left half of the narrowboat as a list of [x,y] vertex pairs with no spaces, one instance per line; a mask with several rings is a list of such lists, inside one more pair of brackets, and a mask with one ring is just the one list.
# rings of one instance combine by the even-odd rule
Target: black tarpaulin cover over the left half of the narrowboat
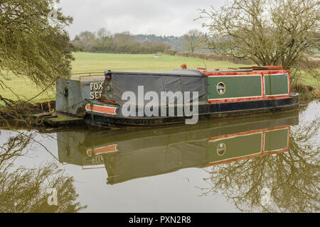
[[[208,101],[207,77],[198,70],[173,70],[164,72],[109,72],[112,74],[114,98],[117,104],[123,105],[124,92],[133,92],[138,104],[138,87],[144,87],[146,92],[156,92],[161,97],[161,92],[190,92],[191,100],[193,92],[198,92],[198,101]],[[184,100],[189,101],[189,100]],[[146,105],[149,100],[144,101]]]

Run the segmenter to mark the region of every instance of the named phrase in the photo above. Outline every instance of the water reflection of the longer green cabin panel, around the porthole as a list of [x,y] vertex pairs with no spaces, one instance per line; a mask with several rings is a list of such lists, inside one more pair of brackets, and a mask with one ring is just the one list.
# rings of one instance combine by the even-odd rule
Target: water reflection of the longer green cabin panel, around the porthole
[[[220,143],[225,143],[225,154],[217,154],[217,148]],[[234,157],[242,157],[261,153],[262,133],[250,135],[238,135],[237,137],[225,138],[217,141],[210,141],[208,145],[208,162],[217,162]]]

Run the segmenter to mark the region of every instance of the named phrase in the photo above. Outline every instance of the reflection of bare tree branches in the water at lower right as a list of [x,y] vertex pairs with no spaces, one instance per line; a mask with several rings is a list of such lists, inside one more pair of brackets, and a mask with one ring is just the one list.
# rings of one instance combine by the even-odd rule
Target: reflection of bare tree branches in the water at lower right
[[[292,128],[289,152],[206,170],[210,187],[201,195],[223,194],[240,211],[319,212],[319,120]],[[267,204],[262,200],[266,189]]]

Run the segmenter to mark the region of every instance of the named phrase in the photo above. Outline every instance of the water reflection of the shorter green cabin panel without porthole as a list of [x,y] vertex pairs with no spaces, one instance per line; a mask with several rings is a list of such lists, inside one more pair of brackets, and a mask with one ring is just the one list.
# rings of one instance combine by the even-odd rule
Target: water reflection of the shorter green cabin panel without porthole
[[288,128],[265,133],[265,151],[282,150],[288,145]]

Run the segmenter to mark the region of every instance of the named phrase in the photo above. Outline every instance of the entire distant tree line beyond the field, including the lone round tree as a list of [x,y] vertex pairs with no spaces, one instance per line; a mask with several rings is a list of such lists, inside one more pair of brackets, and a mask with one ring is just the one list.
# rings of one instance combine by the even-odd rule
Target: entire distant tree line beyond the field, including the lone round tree
[[132,35],[125,31],[112,34],[106,28],[97,32],[83,31],[75,36],[73,45],[86,52],[112,52],[112,53],[156,53],[173,49],[178,52],[209,53],[206,44],[206,34],[191,29],[182,36],[162,35]]

